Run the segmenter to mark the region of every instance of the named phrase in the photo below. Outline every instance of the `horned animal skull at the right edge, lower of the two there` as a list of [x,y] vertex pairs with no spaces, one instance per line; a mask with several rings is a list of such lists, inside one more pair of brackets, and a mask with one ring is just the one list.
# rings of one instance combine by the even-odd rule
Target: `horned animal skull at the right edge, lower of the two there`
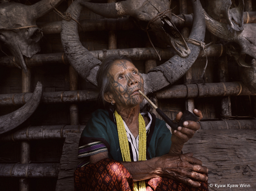
[[[248,86],[249,90],[256,93],[256,73],[255,73],[255,60],[256,60],[256,24],[243,24],[243,31],[237,31],[229,26],[227,23],[220,23],[211,18],[207,12],[205,14],[205,23],[207,29],[213,35],[221,39],[234,42],[240,45],[241,52],[234,55],[238,65],[241,67],[241,77],[243,82]],[[249,55],[253,58],[251,63],[245,62],[245,56]]]

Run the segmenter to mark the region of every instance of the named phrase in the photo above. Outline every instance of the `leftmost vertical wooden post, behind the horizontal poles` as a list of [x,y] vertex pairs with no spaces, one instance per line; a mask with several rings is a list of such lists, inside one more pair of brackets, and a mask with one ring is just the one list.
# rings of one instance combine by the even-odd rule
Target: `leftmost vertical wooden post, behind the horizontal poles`
[[[30,92],[31,90],[31,70],[27,67],[27,73],[22,70],[22,93]],[[20,163],[28,164],[30,162],[30,143],[22,141],[20,143]],[[28,191],[28,179],[19,179],[19,190]]]

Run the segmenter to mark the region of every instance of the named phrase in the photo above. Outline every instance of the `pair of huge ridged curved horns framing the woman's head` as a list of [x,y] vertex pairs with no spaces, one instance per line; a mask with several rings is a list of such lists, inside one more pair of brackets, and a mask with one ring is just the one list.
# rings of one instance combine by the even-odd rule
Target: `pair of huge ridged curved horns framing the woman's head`
[[[84,1],[73,2],[66,12],[69,12],[69,14],[72,15],[72,18],[76,20],[79,19],[80,12],[83,8],[81,4],[84,5]],[[205,19],[203,8],[199,0],[192,0],[192,4],[195,16],[193,20],[192,31],[189,37],[198,41],[204,41]],[[89,51],[84,48],[84,46],[82,46],[79,40],[77,28],[77,23],[74,20],[70,20],[69,22],[63,20],[62,22],[61,43],[63,45],[65,55],[67,56],[69,63],[82,78],[84,78],[85,80],[89,80],[89,82],[97,85],[96,75],[99,67],[98,65],[101,64],[101,61],[94,58],[92,54],[90,54]],[[158,82],[156,80],[152,80],[154,78],[150,79],[146,77],[146,74],[143,75],[143,78],[147,78],[148,80],[152,81],[151,83],[148,83],[148,89],[151,90],[145,90],[146,92],[158,91],[161,88],[167,86],[168,84],[174,83],[177,79],[181,78],[188,71],[188,69],[193,65],[200,53],[200,46],[189,43],[188,46],[192,50],[191,54],[189,54],[188,57],[181,58],[176,55],[163,65],[156,67],[152,70],[160,70],[162,73],[160,72],[157,77],[162,78],[163,80],[167,79],[167,83],[156,84]],[[155,72],[150,72],[148,76],[152,74],[155,74]]]

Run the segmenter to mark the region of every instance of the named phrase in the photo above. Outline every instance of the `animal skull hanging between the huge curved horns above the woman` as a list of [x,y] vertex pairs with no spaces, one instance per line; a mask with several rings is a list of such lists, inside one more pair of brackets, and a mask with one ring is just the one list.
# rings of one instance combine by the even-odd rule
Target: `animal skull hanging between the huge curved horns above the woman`
[[[127,0],[118,3],[88,3],[81,2],[89,10],[105,16],[106,18],[117,18],[118,16],[129,15],[143,29],[147,30],[147,24],[158,14],[169,9],[169,1],[155,0]],[[183,36],[171,20],[171,14],[152,22],[148,27],[150,36],[154,36],[154,44],[160,48],[171,46],[180,57],[187,57],[191,50],[188,48]]]

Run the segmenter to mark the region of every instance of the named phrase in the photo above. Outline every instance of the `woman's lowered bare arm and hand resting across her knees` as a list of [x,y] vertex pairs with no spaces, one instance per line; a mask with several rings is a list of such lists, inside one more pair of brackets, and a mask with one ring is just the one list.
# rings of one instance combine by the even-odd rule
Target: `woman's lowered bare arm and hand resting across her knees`
[[[120,162],[130,172],[134,181],[151,179],[154,177],[168,177],[183,182],[189,186],[199,187],[197,181],[206,181],[208,168],[202,166],[201,160],[192,157],[192,153],[179,155],[163,155],[150,160],[138,162]],[[90,156],[90,163],[108,158],[108,152],[100,152]],[[193,180],[192,180],[193,179]]]

